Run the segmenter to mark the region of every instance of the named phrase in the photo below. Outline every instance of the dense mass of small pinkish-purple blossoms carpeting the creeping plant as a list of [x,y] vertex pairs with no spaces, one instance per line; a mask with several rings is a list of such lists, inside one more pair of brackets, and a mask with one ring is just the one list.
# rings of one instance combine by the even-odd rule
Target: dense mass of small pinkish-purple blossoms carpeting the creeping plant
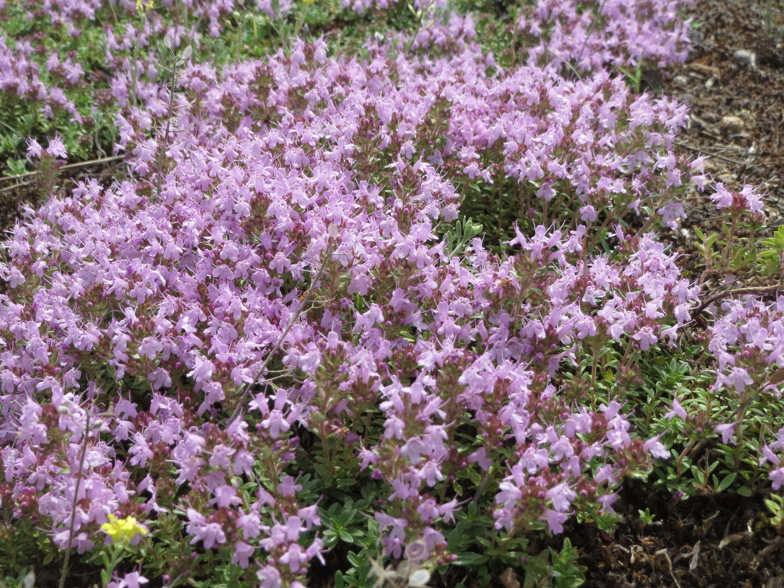
[[[339,441],[355,475],[383,485],[385,553],[413,564],[453,561],[447,488],[469,467],[495,480],[495,528],[510,534],[612,512],[622,479],[668,452],[635,434],[622,396],[597,400],[596,358],[625,350],[615,379],[633,383],[637,360],[691,321],[699,286],[652,228],[675,226],[686,185],[706,176],[672,151],[685,108],[603,68],[682,57],[677,5],[602,2],[601,24],[579,10],[590,5],[539,2],[521,21],[594,70],[584,78],[537,49],[503,71],[470,17],[453,17],[418,31],[415,49],[432,51],[412,56],[368,42],[361,60],[328,59],[319,39],[222,71],[187,63],[173,101],[143,71],[151,58],[112,52],[183,31],[148,19],[107,32],[133,174],[55,191],[6,245],[3,508],[80,553],[109,514],[154,535],[155,517],[181,512],[191,545],[229,547],[263,588],[297,588],[322,551],[291,471],[308,430],[326,476]],[[51,16],[96,9],[68,6]],[[230,8],[203,7],[216,27]],[[39,92],[25,67],[4,70],[4,90],[27,76]],[[453,255],[442,235],[466,191],[505,185],[543,222],[516,227],[510,255],[481,238]],[[708,343],[717,387],[743,394],[782,365],[782,313],[724,303]],[[586,357],[591,381],[572,377]],[[776,466],[778,443],[764,453]]]

